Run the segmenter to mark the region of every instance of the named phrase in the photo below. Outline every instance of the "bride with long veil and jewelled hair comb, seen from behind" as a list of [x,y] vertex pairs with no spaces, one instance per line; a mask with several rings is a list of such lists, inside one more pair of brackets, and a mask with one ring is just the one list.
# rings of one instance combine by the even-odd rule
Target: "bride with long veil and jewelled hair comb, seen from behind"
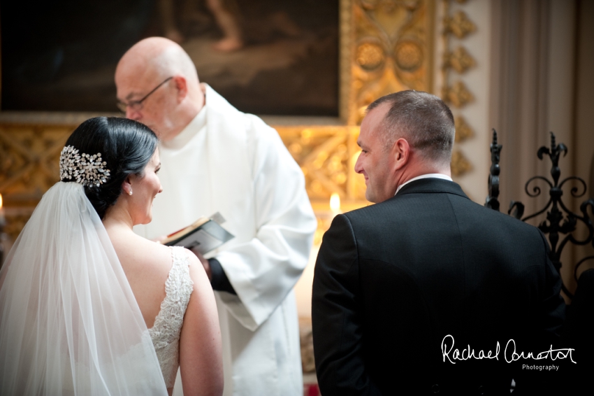
[[197,257],[132,232],[161,192],[157,136],[92,118],[66,141],[0,271],[0,395],[220,395],[215,298]]

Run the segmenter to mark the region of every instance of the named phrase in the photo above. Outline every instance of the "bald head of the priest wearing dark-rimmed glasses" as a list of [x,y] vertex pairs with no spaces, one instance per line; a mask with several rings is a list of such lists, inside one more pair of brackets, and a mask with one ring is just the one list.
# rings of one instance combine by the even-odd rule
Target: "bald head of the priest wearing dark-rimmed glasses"
[[167,38],[133,45],[117,64],[115,85],[126,118],[147,125],[162,141],[182,132],[204,106],[194,62]]

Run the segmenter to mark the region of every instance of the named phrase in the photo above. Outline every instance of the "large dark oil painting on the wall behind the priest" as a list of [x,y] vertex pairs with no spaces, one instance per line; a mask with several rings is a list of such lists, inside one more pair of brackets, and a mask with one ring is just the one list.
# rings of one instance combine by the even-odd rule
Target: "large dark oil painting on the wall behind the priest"
[[241,111],[338,115],[338,0],[2,0],[0,23],[3,111],[115,112],[119,57],[166,36]]

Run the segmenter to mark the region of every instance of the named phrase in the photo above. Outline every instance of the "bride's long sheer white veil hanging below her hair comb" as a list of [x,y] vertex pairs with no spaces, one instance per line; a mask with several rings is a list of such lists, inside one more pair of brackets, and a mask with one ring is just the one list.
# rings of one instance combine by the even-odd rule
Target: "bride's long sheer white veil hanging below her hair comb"
[[43,196],[0,271],[0,395],[167,395],[81,184],[59,182]]

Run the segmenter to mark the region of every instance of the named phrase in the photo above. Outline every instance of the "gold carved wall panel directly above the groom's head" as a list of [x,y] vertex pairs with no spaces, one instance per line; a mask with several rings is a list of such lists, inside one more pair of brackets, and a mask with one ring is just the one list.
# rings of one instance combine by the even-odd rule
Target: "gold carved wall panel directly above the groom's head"
[[359,125],[375,99],[401,90],[433,90],[433,1],[343,0],[342,118]]

